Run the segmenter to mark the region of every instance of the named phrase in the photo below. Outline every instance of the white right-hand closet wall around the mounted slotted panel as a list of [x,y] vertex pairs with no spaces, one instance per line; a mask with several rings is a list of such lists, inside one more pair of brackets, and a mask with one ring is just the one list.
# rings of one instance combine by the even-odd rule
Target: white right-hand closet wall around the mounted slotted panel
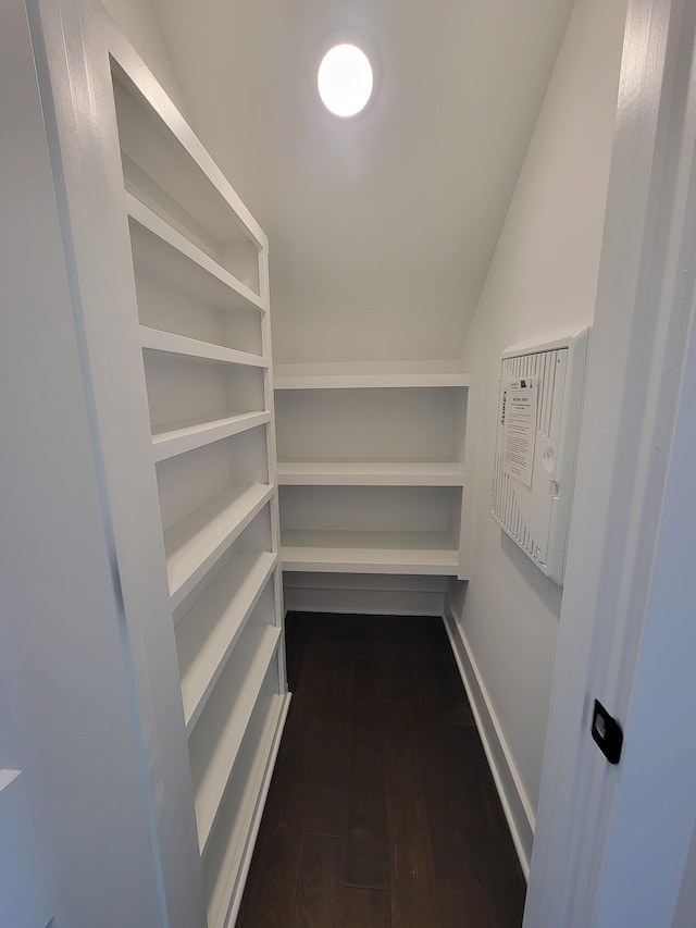
[[494,755],[507,753],[511,776],[502,780],[521,794],[511,807],[513,817],[526,815],[529,832],[561,591],[488,515],[499,356],[592,322],[624,17],[622,0],[575,3],[463,350],[481,378],[481,425],[472,579],[452,590],[452,608],[483,683],[482,719],[498,728],[485,735],[501,746]]

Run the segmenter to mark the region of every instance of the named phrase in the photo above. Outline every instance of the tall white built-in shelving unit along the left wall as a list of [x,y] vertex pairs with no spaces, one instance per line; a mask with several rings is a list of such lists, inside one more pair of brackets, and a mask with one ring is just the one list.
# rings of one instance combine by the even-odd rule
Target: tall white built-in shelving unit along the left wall
[[111,61],[197,850],[222,928],[288,701],[268,240],[149,72]]

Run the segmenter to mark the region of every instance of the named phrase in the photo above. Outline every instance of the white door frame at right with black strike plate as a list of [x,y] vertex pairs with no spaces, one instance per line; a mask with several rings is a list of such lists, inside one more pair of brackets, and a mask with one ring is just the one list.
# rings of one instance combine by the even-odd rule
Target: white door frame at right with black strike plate
[[[679,672],[694,656],[684,553],[696,539],[693,525],[674,532],[674,494],[696,508],[684,480],[696,419],[694,5],[629,3],[525,928],[671,924],[694,825],[688,777],[667,777],[687,765],[696,781],[696,744],[672,703],[696,702],[693,672]],[[595,698],[625,730],[618,766],[591,740]],[[655,815],[649,791],[666,787],[679,827]],[[654,838],[637,838],[648,820],[671,851],[659,884],[644,871]]]

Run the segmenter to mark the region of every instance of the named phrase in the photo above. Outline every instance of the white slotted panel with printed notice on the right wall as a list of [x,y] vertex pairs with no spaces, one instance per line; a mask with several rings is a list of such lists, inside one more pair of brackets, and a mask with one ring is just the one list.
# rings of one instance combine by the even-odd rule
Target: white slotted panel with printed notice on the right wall
[[[500,363],[490,514],[559,585],[563,581],[587,338],[588,330],[583,329],[542,345],[513,346],[504,351]],[[511,473],[506,458],[506,417],[509,419],[511,394],[519,384],[534,391],[527,480]]]

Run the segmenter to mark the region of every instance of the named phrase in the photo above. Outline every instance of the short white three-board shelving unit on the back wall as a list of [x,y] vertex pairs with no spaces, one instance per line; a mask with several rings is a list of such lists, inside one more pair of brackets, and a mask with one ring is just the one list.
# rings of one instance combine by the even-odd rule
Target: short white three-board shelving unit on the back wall
[[277,364],[283,569],[467,578],[471,386],[455,361]]

